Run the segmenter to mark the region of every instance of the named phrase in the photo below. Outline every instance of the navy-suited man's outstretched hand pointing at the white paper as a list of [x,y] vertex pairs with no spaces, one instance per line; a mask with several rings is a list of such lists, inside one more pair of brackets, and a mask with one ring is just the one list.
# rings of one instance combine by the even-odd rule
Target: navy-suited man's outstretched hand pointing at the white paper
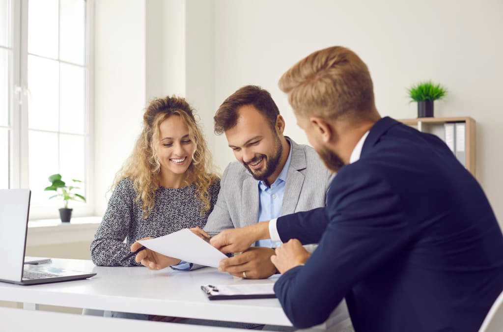
[[242,228],[225,229],[213,236],[211,245],[222,253],[244,252],[249,246],[265,238],[269,238],[269,221]]

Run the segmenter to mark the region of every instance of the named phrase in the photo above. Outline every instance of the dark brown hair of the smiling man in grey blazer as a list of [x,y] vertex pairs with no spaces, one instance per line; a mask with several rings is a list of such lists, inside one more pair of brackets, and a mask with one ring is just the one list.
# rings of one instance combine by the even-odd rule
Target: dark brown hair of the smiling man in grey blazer
[[253,105],[266,117],[271,128],[274,128],[280,111],[271,94],[258,86],[245,86],[230,95],[218,108],[213,117],[215,134],[220,135],[234,127],[239,117],[237,110],[245,105]]

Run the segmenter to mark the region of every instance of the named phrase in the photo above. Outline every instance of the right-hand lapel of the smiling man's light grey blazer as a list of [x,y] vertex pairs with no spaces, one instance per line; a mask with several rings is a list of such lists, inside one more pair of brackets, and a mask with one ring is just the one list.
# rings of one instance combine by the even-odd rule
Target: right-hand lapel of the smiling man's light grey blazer
[[306,168],[306,153],[292,139],[288,137],[287,139],[290,142],[290,147],[292,149],[292,159],[286,176],[285,194],[283,196],[283,204],[281,205],[281,215],[295,212],[300,192],[302,190],[302,185],[304,184],[304,175],[299,171]]

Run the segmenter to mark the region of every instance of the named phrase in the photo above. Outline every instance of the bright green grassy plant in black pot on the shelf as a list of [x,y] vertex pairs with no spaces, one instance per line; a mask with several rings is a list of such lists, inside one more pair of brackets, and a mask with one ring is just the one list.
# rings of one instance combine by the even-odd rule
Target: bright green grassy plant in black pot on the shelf
[[417,117],[433,117],[433,102],[447,96],[447,89],[432,81],[420,82],[407,89],[410,102],[417,102]]

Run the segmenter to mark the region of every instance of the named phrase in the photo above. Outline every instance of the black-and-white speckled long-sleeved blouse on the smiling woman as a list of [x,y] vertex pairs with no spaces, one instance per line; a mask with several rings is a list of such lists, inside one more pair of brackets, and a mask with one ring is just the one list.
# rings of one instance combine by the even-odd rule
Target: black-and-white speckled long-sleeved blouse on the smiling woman
[[220,179],[217,178],[209,188],[210,209],[203,215],[200,214],[203,203],[194,197],[195,190],[195,185],[177,189],[159,187],[152,211],[143,219],[141,207],[134,202],[137,193],[133,181],[129,178],[121,180],[108,201],[91,243],[93,263],[98,266],[140,266],[134,257],[119,261],[131,253],[130,246],[137,239],[159,237],[183,228],[203,228],[217,200]]

